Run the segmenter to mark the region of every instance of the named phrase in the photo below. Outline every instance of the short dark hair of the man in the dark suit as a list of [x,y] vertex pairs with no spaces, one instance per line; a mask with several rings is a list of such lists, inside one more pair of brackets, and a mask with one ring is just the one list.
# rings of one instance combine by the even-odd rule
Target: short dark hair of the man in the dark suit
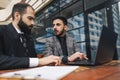
[[[12,19],[14,20],[14,14],[15,12],[19,12],[21,15],[26,12],[27,7],[33,7],[27,3],[17,3],[13,6],[12,9]],[[33,9],[34,10],[34,9]]]

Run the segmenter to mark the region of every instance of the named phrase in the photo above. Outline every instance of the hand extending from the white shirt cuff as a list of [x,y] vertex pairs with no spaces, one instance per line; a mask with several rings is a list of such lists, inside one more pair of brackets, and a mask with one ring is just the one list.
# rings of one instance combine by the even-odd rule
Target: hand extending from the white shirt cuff
[[58,56],[48,56],[48,57],[43,57],[39,58],[39,65],[38,66],[44,66],[48,64],[54,64],[55,66],[61,64],[61,59]]

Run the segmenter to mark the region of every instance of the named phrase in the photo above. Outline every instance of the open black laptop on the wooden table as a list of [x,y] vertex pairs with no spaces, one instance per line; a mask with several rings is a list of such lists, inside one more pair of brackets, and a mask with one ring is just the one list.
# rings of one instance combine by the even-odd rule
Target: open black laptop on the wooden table
[[100,65],[100,64],[110,62],[113,59],[113,55],[116,48],[116,41],[117,41],[117,33],[103,26],[95,59],[93,61],[92,60],[75,60],[73,62],[68,62],[67,64],[79,65],[79,66],[80,65],[94,66],[94,65]]

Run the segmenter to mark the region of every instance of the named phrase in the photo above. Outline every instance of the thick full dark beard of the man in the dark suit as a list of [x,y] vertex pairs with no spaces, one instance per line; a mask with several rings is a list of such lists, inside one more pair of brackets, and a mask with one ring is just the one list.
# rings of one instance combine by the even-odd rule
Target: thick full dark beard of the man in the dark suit
[[28,26],[26,23],[24,23],[22,18],[18,22],[18,26],[19,26],[21,32],[24,32],[25,34],[28,34],[28,35],[31,34],[31,29],[32,29],[33,25]]

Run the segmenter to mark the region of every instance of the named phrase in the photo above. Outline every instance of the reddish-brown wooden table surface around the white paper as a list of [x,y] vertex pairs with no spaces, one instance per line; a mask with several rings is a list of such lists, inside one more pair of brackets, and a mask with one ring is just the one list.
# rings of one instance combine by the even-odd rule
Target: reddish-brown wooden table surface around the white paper
[[[17,70],[0,70],[0,74]],[[79,66],[61,80],[120,80],[120,60],[99,66]]]

